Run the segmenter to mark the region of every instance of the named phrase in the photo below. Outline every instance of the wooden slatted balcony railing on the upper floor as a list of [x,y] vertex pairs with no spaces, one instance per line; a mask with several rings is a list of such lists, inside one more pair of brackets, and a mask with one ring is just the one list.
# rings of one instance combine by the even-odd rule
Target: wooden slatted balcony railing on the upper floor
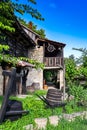
[[63,57],[44,57],[45,67],[63,67]]

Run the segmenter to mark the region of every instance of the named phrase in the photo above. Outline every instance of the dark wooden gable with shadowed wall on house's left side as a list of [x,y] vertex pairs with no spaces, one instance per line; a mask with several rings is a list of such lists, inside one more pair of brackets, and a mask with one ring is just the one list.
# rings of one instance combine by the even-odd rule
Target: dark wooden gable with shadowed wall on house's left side
[[28,56],[28,48],[36,46],[35,40],[28,35],[18,20],[14,23],[15,32],[3,31],[6,36],[2,44],[10,46],[9,53],[13,56]]

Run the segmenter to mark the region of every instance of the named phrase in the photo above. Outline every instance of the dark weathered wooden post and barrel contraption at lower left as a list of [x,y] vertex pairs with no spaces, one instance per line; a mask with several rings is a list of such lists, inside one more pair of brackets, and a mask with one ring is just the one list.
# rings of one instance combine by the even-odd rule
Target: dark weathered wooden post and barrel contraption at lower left
[[[16,79],[16,69],[13,68],[12,71],[3,71],[4,76],[9,76],[8,84],[6,86],[4,99],[2,102],[1,110],[0,110],[0,124],[5,121],[6,119],[10,119],[11,121],[17,120],[22,116],[24,113],[28,113],[29,111],[24,111],[22,109],[22,103],[18,101],[10,101],[9,96],[12,92],[12,87],[14,84],[14,80]],[[10,105],[9,105],[10,104]],[[19,105],[19,109],[16,105]],[[15,107],[13,109],[13,107]]]

